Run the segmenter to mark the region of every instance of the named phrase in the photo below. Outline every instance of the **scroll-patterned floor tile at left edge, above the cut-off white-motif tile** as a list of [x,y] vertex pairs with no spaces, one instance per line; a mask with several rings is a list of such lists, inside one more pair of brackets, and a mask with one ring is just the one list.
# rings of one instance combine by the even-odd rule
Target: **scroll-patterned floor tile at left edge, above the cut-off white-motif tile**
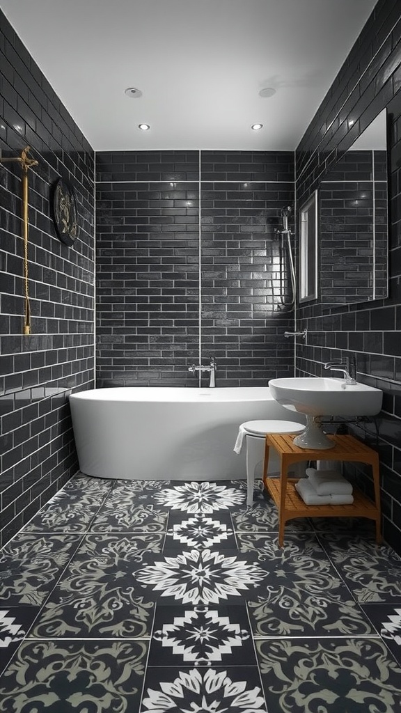
[[0,553],[1,605],[41,605],[80,541],[80,535],[16,535]]

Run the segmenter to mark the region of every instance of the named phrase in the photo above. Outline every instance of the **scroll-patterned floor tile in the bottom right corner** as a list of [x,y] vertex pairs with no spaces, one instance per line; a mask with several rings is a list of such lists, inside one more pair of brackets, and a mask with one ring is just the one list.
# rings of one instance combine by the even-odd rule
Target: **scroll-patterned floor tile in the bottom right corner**
[[400,667],[379,639],[256,642],[269,713],[396,713]]

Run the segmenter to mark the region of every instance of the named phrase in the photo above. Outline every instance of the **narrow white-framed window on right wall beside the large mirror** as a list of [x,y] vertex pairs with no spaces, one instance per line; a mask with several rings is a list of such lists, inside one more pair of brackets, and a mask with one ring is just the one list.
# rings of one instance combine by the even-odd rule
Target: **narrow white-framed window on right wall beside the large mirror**
[[300,209],[300,302],[318,297],[318,191]]

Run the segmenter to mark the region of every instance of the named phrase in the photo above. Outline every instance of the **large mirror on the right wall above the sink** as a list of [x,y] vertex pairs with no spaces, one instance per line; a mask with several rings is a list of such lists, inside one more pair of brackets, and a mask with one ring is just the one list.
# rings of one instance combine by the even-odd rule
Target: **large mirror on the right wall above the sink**
[[319,299],[387,297],[387,115],[384,109],[330,168],[319,190]]

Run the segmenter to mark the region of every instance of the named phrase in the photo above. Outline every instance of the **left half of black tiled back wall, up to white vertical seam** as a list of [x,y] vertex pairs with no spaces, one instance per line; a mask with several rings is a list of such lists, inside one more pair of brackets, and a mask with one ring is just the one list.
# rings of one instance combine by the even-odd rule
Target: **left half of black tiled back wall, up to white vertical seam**
[[181,385],[198,362],[198,152],[98,153],[96,176],[96,384]]

